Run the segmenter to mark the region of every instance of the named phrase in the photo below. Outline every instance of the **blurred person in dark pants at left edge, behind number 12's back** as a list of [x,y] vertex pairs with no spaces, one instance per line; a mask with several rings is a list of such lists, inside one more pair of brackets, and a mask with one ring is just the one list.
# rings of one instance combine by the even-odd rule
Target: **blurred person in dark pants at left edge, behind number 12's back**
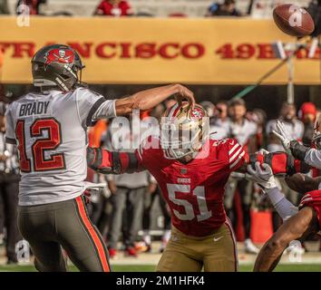
[[15,145],[5,143],[5,103],[0,103],[0,200],[4,209],[7,264],[18,262],[15,245],[22,239],[17,227],[19,193],[18,155]]

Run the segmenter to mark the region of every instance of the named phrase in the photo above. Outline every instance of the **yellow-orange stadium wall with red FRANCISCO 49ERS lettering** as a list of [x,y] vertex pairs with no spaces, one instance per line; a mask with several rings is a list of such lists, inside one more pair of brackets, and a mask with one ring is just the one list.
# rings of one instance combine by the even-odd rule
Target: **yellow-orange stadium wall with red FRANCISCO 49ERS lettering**
[[[20,21],[20,22],[19,22]],[[24,25],[28,24],[28,25]],[[271,44],[295,43],[271,20],[0,17],[3,83],[30,83],[30,60],[47,43],[68,43],[82,55],[93,84],[251,84],[280,62]],[[295,58],[295,83],[320,84],[319,54]],[[265,84],[286,84],[287,65]]]

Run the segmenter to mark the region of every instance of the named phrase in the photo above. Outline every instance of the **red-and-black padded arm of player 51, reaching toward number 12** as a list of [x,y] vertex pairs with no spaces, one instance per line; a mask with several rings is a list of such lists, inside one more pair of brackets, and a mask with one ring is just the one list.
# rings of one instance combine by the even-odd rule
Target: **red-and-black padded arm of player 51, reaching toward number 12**
[[112,152],[102,148],[87,148],[88,167],[102,174],[133,173],[144,170],[135,153]]

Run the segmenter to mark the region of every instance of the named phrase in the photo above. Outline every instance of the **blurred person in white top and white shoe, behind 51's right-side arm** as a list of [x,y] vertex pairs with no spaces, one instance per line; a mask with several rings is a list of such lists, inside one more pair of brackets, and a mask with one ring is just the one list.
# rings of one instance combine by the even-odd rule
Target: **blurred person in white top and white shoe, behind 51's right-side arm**
[[[253,121],[248,121],[246,114],[247,107],[243,100],[236,99],[229,102],[229,137],[238,140],[238,143],[248,153],[254,153],[258,149],[256,143],[258,125]],[[245,250],[250,254],[258,254],[258,247],[250,239],[250,208],[252,199],[253,184],[251,182],[248,182],[246,179],[229,179],[225,197],[227,213],[236,228],[238,227],[237,220],[243,220]],[[236,200],[239,200],[239,202],[236,203]],[[240,205],[238,205],[239,203]],[[241,217],[239,217],[240,215]]]

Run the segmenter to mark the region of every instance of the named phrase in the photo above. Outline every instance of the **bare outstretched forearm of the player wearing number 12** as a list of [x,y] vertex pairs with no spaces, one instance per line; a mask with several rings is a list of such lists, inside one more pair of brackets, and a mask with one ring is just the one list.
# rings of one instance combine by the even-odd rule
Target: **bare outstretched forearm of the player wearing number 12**
[[134,93],[130,97],[116,100],[116,114],[117,116],[126,115],[134,109],[149,110],[175,93],[183,94],[182,90],[184,87],[180,84],[170,84]]

